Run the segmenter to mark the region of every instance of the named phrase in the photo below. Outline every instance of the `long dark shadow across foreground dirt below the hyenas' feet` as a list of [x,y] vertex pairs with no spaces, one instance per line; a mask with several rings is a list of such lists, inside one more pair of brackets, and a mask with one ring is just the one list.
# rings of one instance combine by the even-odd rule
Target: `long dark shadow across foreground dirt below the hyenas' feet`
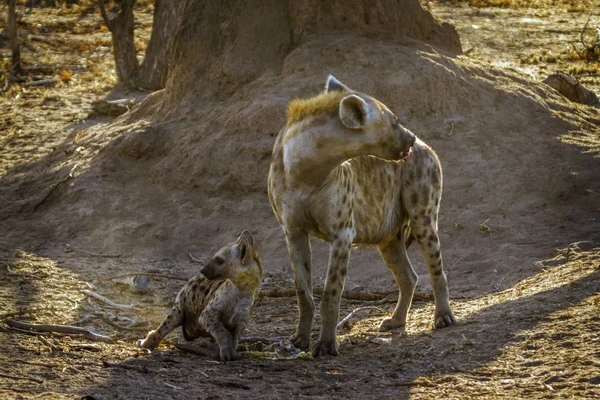
[[97,399],[408,399],[415,387],[434,385],[430,380],[440,376],[481,377],[479,369],[498,360],[507,346],[523,341],[527,331],[599,291],[600,270],[595,269],[559,287],[480,308],[449,329],[395,336],[388,345],[342,345],[340,356],[314,361],[246,357],[224,365],[176,350],[155,350],[118,361],[105,382],[77,393]]

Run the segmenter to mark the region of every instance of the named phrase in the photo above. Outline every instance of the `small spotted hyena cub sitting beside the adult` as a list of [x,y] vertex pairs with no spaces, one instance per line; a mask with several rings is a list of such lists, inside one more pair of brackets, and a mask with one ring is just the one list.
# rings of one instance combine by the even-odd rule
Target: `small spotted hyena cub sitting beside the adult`
[[262,265],[250,232],[244,231],[237,241],[220,249],[200,272],[179,291],[158,329],[138,340],[139,347],[152,349],[181,326],[186,340],[212,336],[221,360],[235,359],[262,283]]

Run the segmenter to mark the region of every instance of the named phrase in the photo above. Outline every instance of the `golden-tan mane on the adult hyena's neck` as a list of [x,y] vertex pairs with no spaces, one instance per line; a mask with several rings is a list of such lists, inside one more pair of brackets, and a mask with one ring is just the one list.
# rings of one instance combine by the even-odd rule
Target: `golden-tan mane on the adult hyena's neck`
[[309,117],[334,115],[338,112],[340,102],[348,92],[335,90],[321,92],[308,99],[294,99],[288,105],[287,125],[300,122]]

